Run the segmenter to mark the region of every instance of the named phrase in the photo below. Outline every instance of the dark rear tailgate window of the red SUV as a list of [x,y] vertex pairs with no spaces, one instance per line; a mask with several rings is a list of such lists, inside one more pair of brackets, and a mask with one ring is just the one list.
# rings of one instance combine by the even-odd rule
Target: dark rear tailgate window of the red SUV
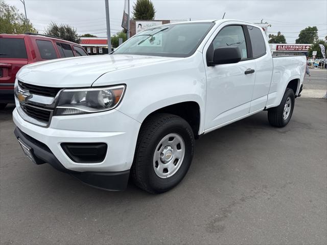
[[0,58],[27,59],[24,39],[0,38]]

